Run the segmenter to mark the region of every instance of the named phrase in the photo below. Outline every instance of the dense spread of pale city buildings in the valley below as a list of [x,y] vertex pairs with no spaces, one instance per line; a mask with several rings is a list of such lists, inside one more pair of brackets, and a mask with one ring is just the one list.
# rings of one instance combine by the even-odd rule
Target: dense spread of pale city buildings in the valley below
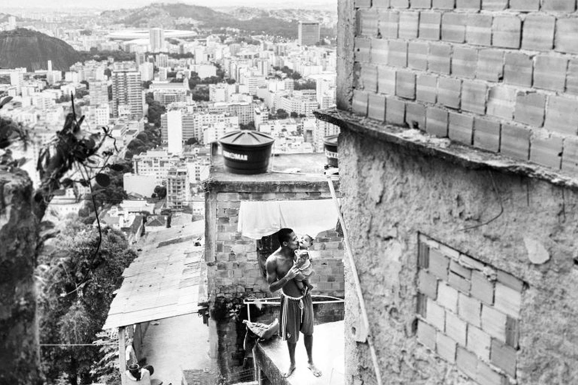
[[[30,160],[24,168],[38,184],[38,150],[61,129],[71,95],[85,127],[108,127],[113,139],[103,150],[116,148],[119,159],[154,123],[147,117],[155,101],[157,108],[164,107],[157,122],[161,147],[131,150],[132,173],[124,176],[124,190],[146,202],[162,186],[166,208],[202,214],[202,205],[195,202],[202,200],[197,193],[208,176],[206,149],[221,136],[255,129],[276,139],[275,153],[312,153],[323,151],[323,138],[336,134],[336,126],[313,117],[313,110],[335,104],[335,49],[316,46],[318,23],[300,23],[298,32],[295,42],[253,36],[253,44],[221,36],[194,39],[190,31],[162,28],[116,31],[100,43],[89,39],[98,32],[65,34],[68,43],[90,45],[80,49],[121,49],[134,53],[134,60],[77,62],[68,71],[56,71],[50,61],[34,72],[1,69],[0,91],[13,97],[2,114],[31,128],[32,145],[17,156]],[[82,208],[82,190],[59,195],[53,214]]]

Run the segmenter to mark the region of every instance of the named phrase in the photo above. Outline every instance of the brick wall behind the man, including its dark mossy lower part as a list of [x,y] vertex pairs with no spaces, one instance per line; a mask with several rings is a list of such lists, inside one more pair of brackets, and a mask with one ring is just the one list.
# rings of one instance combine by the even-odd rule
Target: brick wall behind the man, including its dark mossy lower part
[[[271,293],[258,261],[257,240],[244,237],[237,231],[239,208],[242,201],[287,201],[328,199],[331,194],[327,184],[303,183],[301,186],[266,186],[251,184],[232,186],[223,191],[215,188],[206,197],[206,242],[205,260],[207,262],[207,286],[209,306],[214,309],[216,301],[249,297],[277,297]],[[227,190],[227,189],[225,189]],[[321,191],[320,191],[321,190]],[[298,231],[298,229],[295,229]],[[313,268],[316,275],[312,279],[316,287],[313,294],[331,295],[343,298],[343,238],[329,229],[317,235],[312,249],[317,250]],[[246,313],[244,309],[241,310]],[[314,305],[316,323],[343,319],[343,303]],[[279,317],[278,306],[266,306],[264,314],[251,313],[251,320],[269,323]],[[244,317],[243,317],[244,318]],[[221,375],[231,376],[236,367],[243,365],[246,352],[243,351],[245,328],[235,320],[221,320],[216,330],[210,332],[210,339],[218,346],[218,362]]]

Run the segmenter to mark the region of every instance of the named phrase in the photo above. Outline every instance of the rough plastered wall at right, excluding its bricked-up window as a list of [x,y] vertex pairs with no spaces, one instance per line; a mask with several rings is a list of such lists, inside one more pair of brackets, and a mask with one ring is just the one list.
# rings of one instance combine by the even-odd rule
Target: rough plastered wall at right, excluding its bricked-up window
[[[503,376],[471,379],[475,373],[418,341],[419,232],[524,282],[518,383],[575,382],[576,191],[468,170],[348,130],[339,151],[344,217],[384,384],[503,384]],[[346,266],[346,330],[360,323],[350,282]],[[351,334],[346,362],[348,384],[376,383],[367,345]],[[488,367],[506,374],[491,362]]]

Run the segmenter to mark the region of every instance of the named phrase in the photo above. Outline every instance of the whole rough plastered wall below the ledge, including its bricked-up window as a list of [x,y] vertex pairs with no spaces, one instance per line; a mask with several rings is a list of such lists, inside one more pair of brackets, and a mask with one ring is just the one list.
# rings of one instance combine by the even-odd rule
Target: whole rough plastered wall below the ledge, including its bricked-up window
[[[578,378],[576,190],[344,128],[343,215],[383,384]],[[348,385],[376,384],[346,264]]]

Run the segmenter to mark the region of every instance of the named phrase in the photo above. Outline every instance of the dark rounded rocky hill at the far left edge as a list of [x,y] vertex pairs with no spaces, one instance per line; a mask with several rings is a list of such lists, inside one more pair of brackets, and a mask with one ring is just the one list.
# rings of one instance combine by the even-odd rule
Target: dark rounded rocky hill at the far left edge
[[79,58],[70,45],[41,32],[24,28],[0,32],[0,68],[47,69],[51,60],[53,69],[68,71]]

